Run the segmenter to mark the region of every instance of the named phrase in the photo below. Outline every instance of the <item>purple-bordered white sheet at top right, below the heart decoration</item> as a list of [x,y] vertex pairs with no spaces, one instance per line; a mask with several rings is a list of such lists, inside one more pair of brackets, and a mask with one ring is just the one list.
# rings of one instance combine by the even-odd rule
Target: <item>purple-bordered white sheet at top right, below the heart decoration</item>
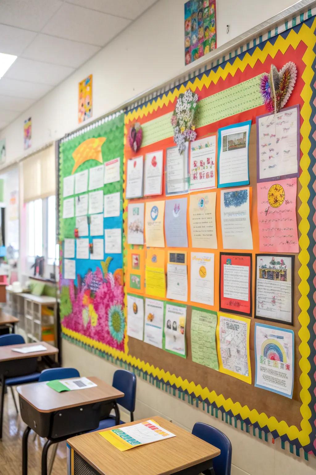
[[299,176],[299,105],[256,117],[257,182]]

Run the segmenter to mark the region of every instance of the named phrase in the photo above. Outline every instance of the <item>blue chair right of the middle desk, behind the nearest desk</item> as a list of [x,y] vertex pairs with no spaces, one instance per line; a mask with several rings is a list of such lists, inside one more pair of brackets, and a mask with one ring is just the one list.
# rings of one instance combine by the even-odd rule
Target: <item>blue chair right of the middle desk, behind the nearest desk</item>
[[[113,388],[124,392],[124,397],[117,399],[117,403],[124,409],[130,412],[131,422],[134,420],[135,399],[136,399],[136,376],[131,371],[117,370],[113,375]],[[119,411],[117,409],[118,415]],[[124,424],[122,420],[120,424]],[[116,416],[109,416],[106,419],[100,420],[99,427],[95,430],[107,429],[116,426]],[[94,431],[91,431],[94,432]]]

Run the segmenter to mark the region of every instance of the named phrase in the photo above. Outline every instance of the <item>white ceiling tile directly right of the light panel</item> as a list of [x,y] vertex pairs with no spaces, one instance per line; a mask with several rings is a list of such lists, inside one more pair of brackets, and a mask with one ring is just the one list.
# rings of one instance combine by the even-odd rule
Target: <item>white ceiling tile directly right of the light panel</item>
[[41,63],[31,59],[18,58],[3,77],[30,81],[34,83],[56,85],[74,71],[68,66]]

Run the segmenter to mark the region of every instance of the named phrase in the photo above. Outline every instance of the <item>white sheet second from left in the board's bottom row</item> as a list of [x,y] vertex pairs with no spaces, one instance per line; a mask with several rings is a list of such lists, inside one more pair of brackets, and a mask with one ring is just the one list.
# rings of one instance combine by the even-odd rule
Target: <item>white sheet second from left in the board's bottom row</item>
[[164,303],[161,300],[146,298],[144,319],[144,342],[163,348]]

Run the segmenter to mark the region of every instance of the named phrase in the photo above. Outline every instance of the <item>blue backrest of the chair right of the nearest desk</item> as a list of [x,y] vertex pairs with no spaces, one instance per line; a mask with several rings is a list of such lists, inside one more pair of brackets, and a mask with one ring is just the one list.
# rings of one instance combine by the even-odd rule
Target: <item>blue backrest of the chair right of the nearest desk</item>
[[221,430],[203,422],[196,422],[194,424],[192,434],[220,449],[220,455],[213,458],[215,475],[230,475],[232,444],[229,438]]

